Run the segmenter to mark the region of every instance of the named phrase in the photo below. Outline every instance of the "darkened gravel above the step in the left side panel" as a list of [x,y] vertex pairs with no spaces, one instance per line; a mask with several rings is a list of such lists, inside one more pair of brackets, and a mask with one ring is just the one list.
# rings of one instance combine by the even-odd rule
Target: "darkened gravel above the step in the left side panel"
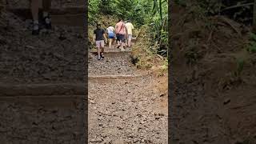
[[2,30],[0,82],[84,82],[86,42],[82,27],[54,26],[39,36],[28,30],[30,22],[14,15],[15,25]]

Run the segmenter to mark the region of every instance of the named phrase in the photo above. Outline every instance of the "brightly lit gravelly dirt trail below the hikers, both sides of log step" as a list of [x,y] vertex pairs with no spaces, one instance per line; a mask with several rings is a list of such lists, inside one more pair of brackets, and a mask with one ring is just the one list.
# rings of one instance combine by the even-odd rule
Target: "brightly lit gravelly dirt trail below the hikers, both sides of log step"
[[[90,74],[139,72],[129,53],[119,51],[99,62],[92,55]],[[89,143],[167,143],[167,96],[154,85],[158,82],[150,75],[89,80]]]

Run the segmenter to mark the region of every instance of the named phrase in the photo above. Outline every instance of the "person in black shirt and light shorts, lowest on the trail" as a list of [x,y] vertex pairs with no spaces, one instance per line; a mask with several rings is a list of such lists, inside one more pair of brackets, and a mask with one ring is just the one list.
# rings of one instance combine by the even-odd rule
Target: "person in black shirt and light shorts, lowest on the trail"
[[98,52],[98,60],[102,60],[104,59],[104,46],[105,46],[105,42],[106,40],[106,34],[105,34],[105,30],[103,30],[101,28],[100,24],[97,24],[97,28],[96,30],[94,30],[94,42],[96,44],[97,47],[97,52]]

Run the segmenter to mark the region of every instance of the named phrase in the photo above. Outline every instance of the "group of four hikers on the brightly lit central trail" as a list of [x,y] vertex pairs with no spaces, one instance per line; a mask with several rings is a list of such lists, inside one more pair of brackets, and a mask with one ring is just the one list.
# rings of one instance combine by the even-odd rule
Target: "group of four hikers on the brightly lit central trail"
[[98,23],[96,30],[94,30],[94,43],[97,47],[98,60],[104,59],[104,46],[108,39],[110,49],[112,48],[112,44],[116,46],[117,43],[117,48],[123,51],[126,46],[131,46],[133,32],[134,26],[130,22],[130,19],[123,22],[122,18],[120,18],[115,27],[109,26],[106,30]]

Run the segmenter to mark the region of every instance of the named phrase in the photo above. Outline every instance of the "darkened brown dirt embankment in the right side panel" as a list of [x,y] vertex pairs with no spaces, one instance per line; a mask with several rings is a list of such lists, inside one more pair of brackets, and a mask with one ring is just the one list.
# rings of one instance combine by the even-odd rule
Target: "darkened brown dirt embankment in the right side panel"
[[[197,9],[175,5],[171,17],[172,140],[253,141],[255,55],[246,51],[249,29],[222,16],[200,18]],[[236,76],[239,59],[244,65]]]

